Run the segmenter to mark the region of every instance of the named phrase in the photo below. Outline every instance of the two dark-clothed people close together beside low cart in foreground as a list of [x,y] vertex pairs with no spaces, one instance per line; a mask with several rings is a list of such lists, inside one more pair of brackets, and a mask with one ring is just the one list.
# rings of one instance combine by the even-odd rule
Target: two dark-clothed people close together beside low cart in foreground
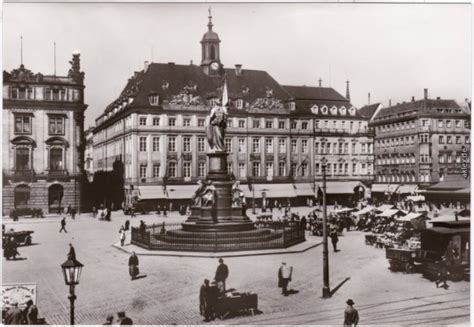
[[209,279],[204,279],[199,290],[199,312],[204,316],[204,321],[216,318],[216,304],[219,297],[225,294],[228,277],[229,267],[224,263],[224,259],[220,258],[214,280],[209,283]]

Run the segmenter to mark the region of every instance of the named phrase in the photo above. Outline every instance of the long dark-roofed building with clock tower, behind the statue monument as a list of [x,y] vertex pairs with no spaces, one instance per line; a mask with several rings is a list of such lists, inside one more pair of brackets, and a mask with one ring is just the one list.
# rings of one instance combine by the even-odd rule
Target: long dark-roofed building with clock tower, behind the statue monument
[[[321,85],[282,86],[241,65],[224,68],[212,28],[209,17],[200,65],[146,62],[96,119],[94,170],[110,171],[123,161],[127,204],[137,196],[190,199],[207,174],[205,119],[224,79],[231,100],[228,171],[247,197],[313,197],[323,158],[334,194],[353,193],[371,179],[367,119],[347,98]],[[341,183],[347,180],[352,187]]]

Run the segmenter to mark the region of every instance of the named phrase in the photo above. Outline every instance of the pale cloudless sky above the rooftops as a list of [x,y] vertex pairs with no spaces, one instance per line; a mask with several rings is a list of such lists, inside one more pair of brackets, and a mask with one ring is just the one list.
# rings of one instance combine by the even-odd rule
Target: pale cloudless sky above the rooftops
[[[4,3],[3,69],[85,72],[86,127],[144,61],[199,64],[209,3]],[[282,85],[331,86],[360,108],[429,96],[471,98],[466,4],[214,3],[225,67],[266,70]]]

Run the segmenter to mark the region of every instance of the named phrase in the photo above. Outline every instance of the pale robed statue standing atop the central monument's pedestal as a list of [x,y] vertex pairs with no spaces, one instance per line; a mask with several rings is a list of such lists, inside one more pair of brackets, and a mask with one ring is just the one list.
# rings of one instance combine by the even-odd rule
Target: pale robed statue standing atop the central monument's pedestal
[[212,107],[206,119],[206,136],[210,152],[225,152],[225,129],[227,127],[227,108],[218,104]]

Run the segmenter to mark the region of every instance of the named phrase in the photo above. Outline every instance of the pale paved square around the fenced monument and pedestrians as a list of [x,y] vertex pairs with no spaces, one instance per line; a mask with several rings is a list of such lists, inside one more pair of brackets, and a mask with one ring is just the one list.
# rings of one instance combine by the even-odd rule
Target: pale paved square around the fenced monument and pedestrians
[[[298,210],[299,209],[299,210]],[[308,208],[295,208],[306,212]],[[52,219],[52,218],[51,218]],[[68,218],[68,233],[59,233],[59,219],[7,221],[7,228],[34,230],[29,247],[20,247],[26,260],[3,259],[3,283],[35,282],[38,285],[40,315],[50,324],[68,324],[68,288],[60,264],[66,260],[72,242],[77,258],[85,267],[76,287],[76,323],[100,324],[107,314],[125,310],[136,324],[201,324],[198,310],[199,286],[212,279],[217,260],[140,256],[144,275],[135,281],[128,276],[128,254],[112,247],[126,217],[112,215],[112,222],[82,215]],[[138,216],[147,224],[177,223],[184,218],[171,215]],[[252,291],[259,296],[256,316],[240,316],[211,324],[337,324],[341,325],[345,301],[352,298],[361,324],[444,325],[469,322],[469,283],[450,283],[438,289],[421,274],[393,273],[387,269],[385,253],[367,246],[363,233],[349,232],[340,237],[341,252],[330,252],[330,299],[321,298],[322,247],[303,253],[226,258],[230,269],[228,287]],[[310,236],[313,237],[313,236]],[[298,291],[283,297],[277,288],[277,270],[282,261],[294,266],[290,288]]]

